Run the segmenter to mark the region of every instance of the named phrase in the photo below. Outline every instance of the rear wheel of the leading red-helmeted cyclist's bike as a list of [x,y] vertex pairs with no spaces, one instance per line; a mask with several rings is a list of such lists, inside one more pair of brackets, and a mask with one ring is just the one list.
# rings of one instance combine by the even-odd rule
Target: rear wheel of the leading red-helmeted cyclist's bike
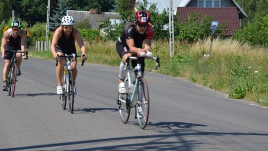
[[128,88],[128,93],[121,94],[118,92],[118,99],[121,98],[121,99],[126,100],[126,102],[120,101],[120,105],[119,105],[120,119],[121,119],[122,123],[126,124],[130,118],[131,108],[129,107],[130,88],[129,88],[128,80],[125,80],[124,82],[126,84],[126,87]]

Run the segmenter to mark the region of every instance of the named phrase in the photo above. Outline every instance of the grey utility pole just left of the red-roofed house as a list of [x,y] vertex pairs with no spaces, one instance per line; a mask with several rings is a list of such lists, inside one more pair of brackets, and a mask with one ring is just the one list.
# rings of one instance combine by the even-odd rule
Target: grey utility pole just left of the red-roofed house
[[169,56],[174,56],[174,17],[173,17],[173,0],[169,0]]

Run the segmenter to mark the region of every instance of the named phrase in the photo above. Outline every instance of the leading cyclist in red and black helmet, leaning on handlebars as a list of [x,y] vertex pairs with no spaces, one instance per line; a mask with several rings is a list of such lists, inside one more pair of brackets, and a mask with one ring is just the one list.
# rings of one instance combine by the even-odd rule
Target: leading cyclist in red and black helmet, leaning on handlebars
[[[122,58],[119,67],[119,92],[126,93],[126,85],[124,79],[126,78],[127,70],[125,68],[125,61],[130,56],[142,57],[142,52],[151,51],[151,42],[154,34],[154,29],[150,21],[150,15],[145,10],[137,10],[134,14],[134,21],[126,23],[122,35],[118,38],[116,43],[116,50]],[[144,42],[144,48],[142,48]],[[132,66],[137,64],[132,61]],[[141,70],[144,71],[144,59],[141,62]]]

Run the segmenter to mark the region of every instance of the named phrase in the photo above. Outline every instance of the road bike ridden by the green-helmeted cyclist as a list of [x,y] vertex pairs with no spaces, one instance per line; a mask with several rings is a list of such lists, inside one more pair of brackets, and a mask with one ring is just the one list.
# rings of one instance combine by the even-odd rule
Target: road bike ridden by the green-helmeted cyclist
[[8,92],[8,95],[11,95],[11,97],[14,97],[16,81],[18,81],[17,80],[17,53],[25,53],[26,57],[28,58],[28,51],[26,52],[21,52],[20,50],[6,50],[6,51],[13,53],[10,68],[9,68],[9,73],[7,76],[7,92]]

